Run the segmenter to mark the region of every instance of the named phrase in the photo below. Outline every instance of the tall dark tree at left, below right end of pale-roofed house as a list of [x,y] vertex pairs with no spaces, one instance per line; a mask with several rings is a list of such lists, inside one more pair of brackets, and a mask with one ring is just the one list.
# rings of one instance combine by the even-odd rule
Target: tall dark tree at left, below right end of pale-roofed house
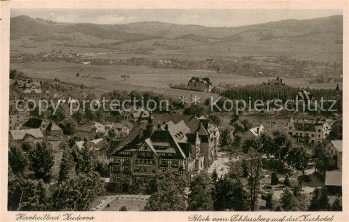
[[45,183],[52,177],[53,157],[45,142],[36,143],[29,152],[30,168],[36,179],[43,179]]

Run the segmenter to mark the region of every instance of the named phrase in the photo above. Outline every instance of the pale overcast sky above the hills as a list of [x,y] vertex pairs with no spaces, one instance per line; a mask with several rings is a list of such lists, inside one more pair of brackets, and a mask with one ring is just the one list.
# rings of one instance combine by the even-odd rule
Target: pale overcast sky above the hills
[[210,27],[234,27],[278,21],[343,15],[343,10],[300,9],[11,9],[11,17],[28,15],[57,22],[124,24],[162,21]]

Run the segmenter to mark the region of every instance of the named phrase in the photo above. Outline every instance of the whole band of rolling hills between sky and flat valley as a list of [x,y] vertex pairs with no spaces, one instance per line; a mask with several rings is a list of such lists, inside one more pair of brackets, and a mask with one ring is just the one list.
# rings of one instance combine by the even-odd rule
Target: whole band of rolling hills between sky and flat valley
[[[343,16],[287,19],[240,27],[205,27],[159,21],[130,24],[60,23],[25,15],[10,19],[11,50],[52,49],[64,40],[76,51],[104,48],[125,53],[149,48],[148,57],[215,57],[286,55],[299,59],[341,60]],[[25,40],[24,40],[25,39]],[[23,48],[25,44],[32,47]],[[30,48],[30,50],[28,49]],[[137,50],[136,50],[137,51]],[[130,55],[131,56],[131,55]]]

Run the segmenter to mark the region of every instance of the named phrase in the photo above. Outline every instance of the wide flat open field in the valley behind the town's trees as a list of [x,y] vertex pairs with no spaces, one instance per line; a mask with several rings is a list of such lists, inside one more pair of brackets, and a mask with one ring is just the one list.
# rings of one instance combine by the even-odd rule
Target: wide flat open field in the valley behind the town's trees
[[[58,78],[75,84],[84,84],[92,86],[97,92],[108,92],[112,90],[121,91],[153,91],[159,94],[165,94],[172,97],[182,95],[189,97],[197,95],[201,99],[209,96],[216,97],[215,94],[194,92],[186,90],[171,89],[169,84],[186,84],[192,76],[208,77],[214,85],[218,84],[236,84],[238,86],[249,84],[260,84],[267,82],[268,77],[251,77],[239,76],[232,74],[217,74],[206,70],[177,70],[177,69],[154,69],[145,66],[123,66],[108,65],[95,66],[83,65],[67,62],[28,62],[28,63],[11,63],[10,69],[16,69],[24,72],[33,78],[54,79]],[[80,77],[76,77],[80,73]],[[88,76],[89,78],[83,78]],[[121,75],[129,75],[126,81],[122,80]],[[91,77],[102,77],[105,79],[93,79]],[[310,87],[310,88],[336,88],[336,83],[310,84],[309,78],[283,78],[283,82],[293,87]]]

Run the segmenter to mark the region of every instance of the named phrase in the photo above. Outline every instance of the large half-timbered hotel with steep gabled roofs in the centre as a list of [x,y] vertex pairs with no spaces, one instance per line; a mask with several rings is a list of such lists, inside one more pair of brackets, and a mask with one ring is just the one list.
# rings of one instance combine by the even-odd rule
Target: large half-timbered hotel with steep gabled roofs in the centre
[[190,177],[217,158],[218,143],[218,128],[204,116],[150,112],[124,140],[111,143],[110,182],[146,186],[164,169]]

